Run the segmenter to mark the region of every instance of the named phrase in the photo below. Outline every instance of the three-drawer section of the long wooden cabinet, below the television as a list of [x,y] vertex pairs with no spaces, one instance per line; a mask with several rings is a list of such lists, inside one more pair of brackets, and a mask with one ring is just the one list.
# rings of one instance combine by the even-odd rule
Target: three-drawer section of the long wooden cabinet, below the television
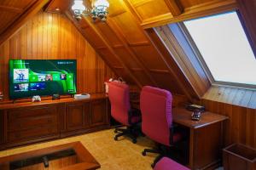
[[6,111],[8,144],[55,139],[60,135],[60,105],[30,106]]

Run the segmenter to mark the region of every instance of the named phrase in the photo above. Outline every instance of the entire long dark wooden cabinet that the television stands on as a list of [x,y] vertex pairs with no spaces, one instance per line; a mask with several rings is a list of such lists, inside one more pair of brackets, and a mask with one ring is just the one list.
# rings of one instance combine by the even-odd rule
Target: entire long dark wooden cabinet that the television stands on
[[105,94],[0,105],[0,150],[108,128],[108,119]]

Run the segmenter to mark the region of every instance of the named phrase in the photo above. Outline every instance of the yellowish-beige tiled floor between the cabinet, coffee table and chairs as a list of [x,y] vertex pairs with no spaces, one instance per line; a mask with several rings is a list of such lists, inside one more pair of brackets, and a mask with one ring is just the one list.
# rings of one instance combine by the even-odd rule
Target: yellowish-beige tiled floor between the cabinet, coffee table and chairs
[[0,152],[1,156],[9,156],[25,151],[37,150],[44,147],[54,146],[56,144],[65,144],[74,141],[80,141],[85,148],[95,156],[96,160],[102,165],[102,170],[148,170],[154,161],[154,156],[142,156],[144,148],[150,148],[154,145],[151,140],[140,137],[137,144],[132,144],[130,139],[119,138],[119,141],[113,140],[113,129],[104,130],[96,133],[84,134],[67,139],[59,139],[42,144],[32,144],[26,147],[15,148],[13,150],[4,150]]

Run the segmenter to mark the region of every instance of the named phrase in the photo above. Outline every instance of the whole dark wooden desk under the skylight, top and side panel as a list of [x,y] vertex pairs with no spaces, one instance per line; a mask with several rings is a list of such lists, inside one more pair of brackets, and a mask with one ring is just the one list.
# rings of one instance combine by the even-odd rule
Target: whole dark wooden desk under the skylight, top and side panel
[[173,122],[189,127],[189,167],[214,169],[220,163],[223,148],[223,122],[227,116],[204,112],[200,121],[191,120],[191,111],[172,109]]

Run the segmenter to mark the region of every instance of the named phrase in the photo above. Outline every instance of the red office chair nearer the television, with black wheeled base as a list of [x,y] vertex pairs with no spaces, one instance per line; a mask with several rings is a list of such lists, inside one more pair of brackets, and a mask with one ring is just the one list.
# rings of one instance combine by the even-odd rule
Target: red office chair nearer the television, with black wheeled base
[[136,125],[141,121],[141,116],[137,110],[132,110],[129,97],[129,86],[120,82],[108,83],[108,98],[111,104],[111,116],[117,121],[127,126],[126,129],[115,128],[118,133],[114,139],[126,135],[137,143]]

